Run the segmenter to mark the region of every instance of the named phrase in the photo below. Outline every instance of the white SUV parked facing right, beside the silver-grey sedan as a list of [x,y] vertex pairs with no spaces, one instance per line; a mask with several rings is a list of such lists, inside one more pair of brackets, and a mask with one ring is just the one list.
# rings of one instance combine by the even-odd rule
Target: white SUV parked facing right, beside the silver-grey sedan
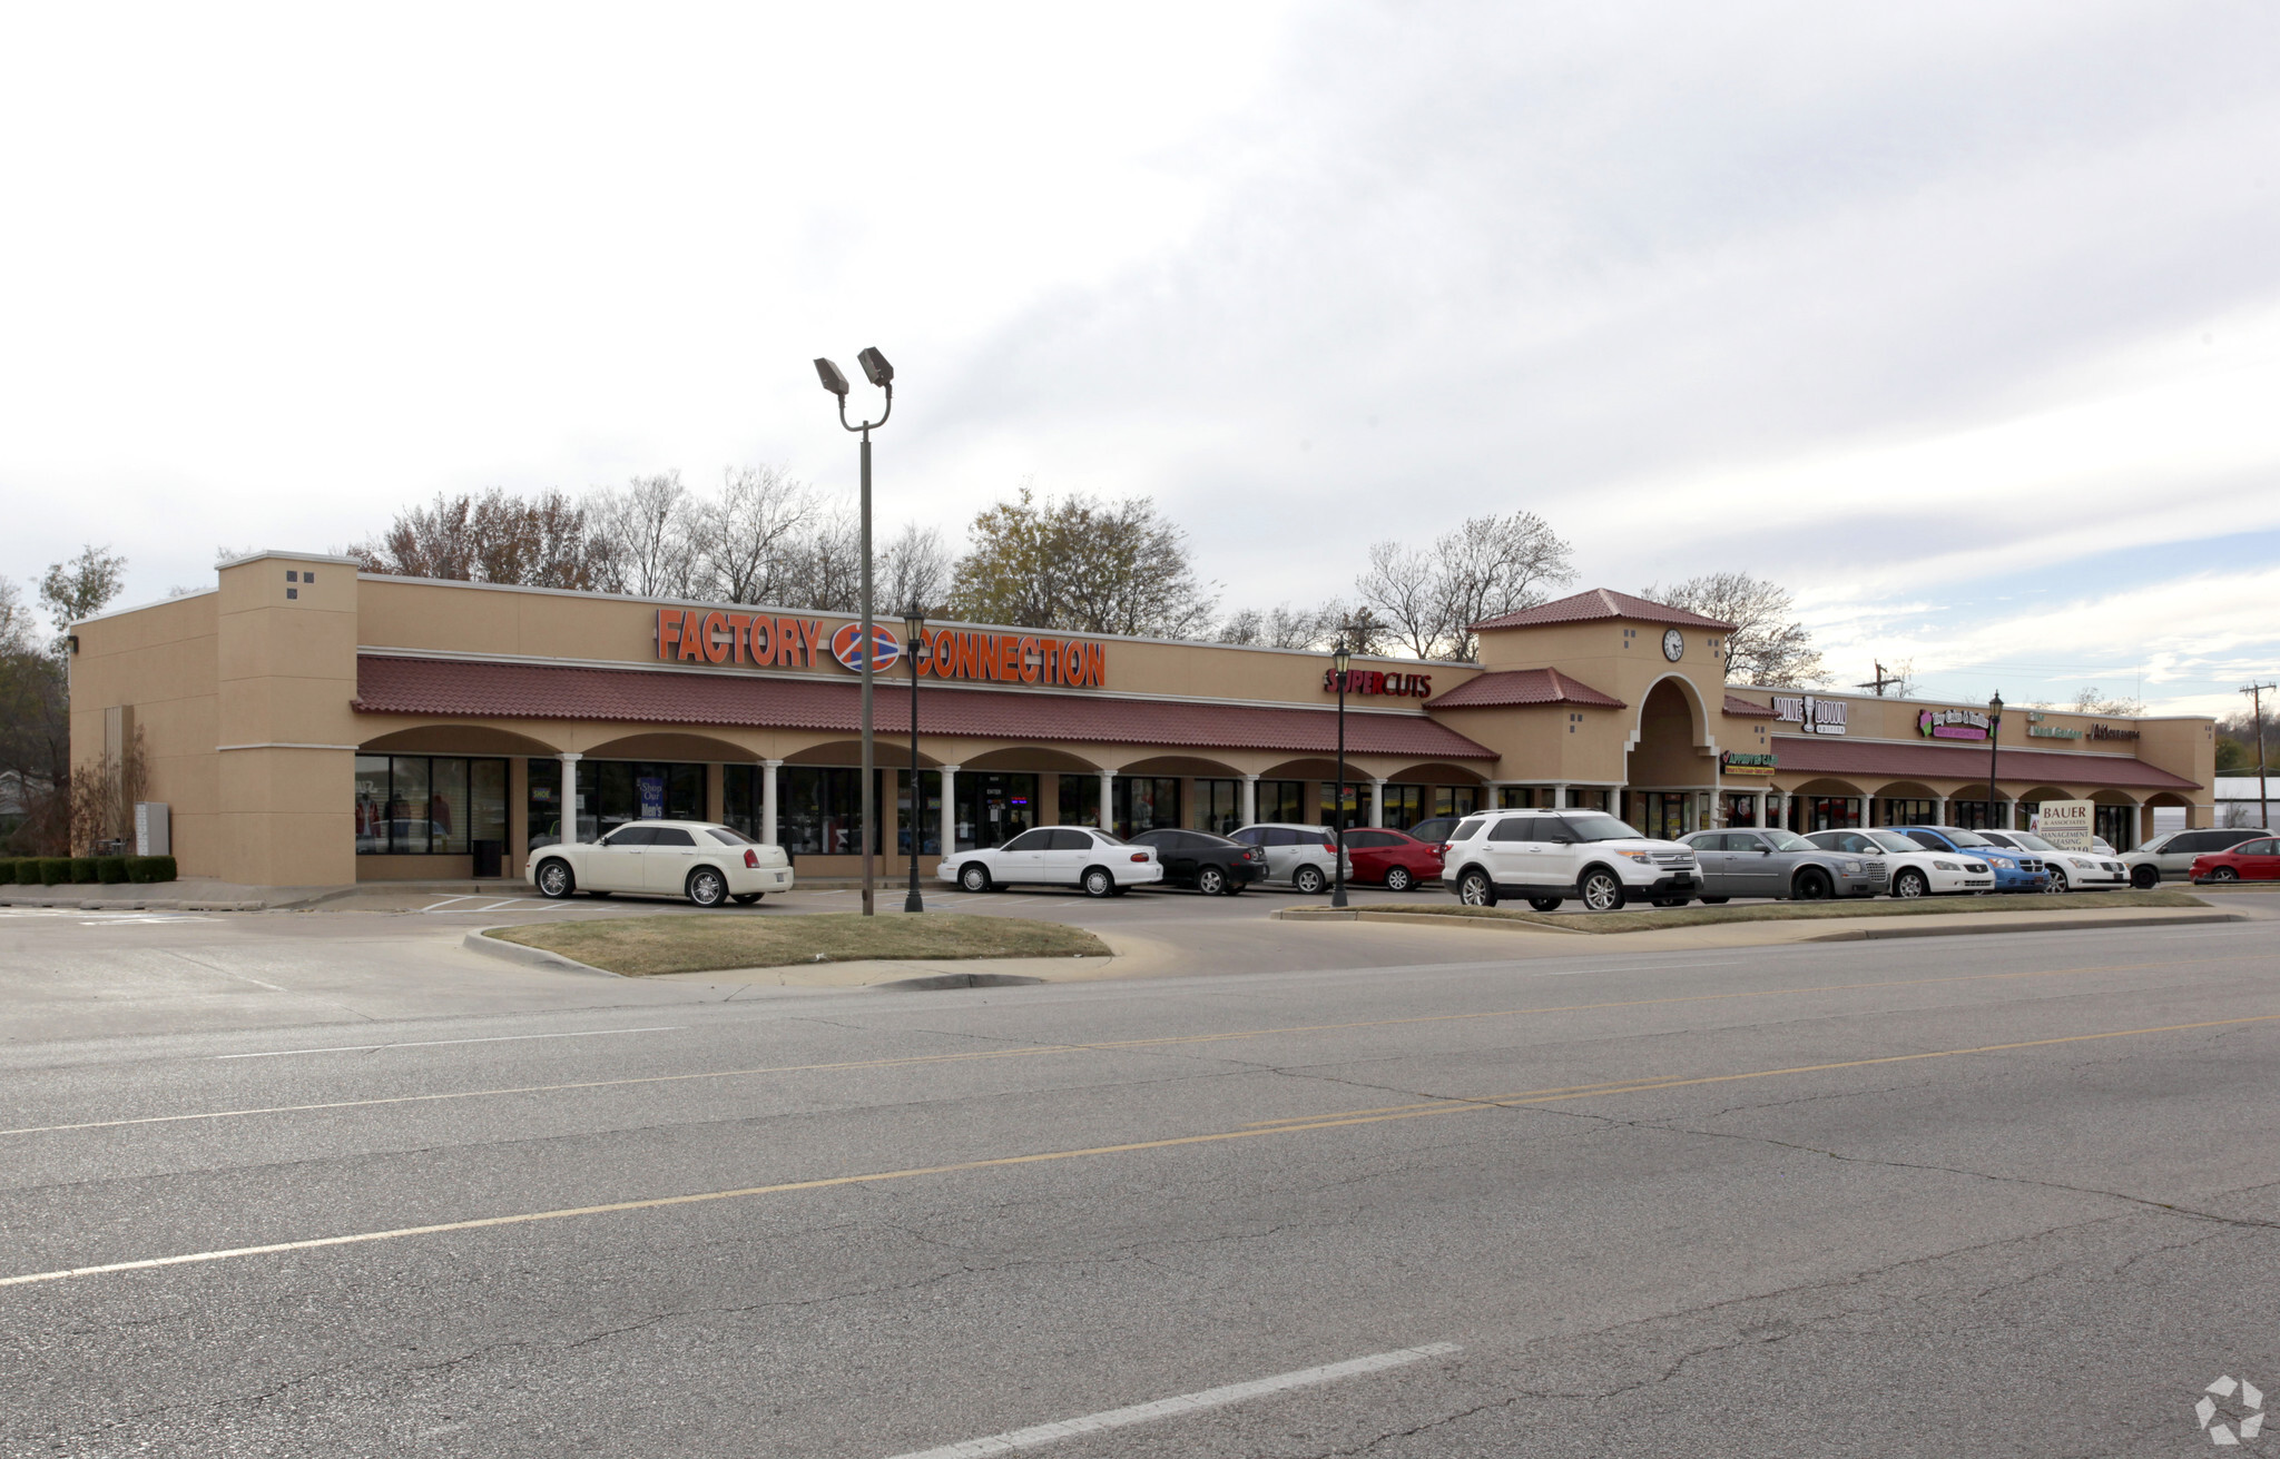
[[1441,885],[1466,907],[1525,896],[1553,912],[1575,896],[1594,912],[1644,898],[1678,905],[1701,896],[1694,848],[1642,837],[1607,812],[1482,812],[1448,837]]

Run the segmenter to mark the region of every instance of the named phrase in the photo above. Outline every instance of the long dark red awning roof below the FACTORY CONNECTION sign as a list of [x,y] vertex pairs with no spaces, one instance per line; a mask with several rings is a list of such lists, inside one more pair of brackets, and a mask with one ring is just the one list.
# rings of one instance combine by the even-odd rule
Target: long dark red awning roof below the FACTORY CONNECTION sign
[[[353,709],[363,714],[862,732],[862,688],[855,679],[689,675],[388,654],[365,654],[356,661]],[[871,727],[878,734],[910,734],[907,679],[880,682],[871,707]],[[919,691],[919,734],[1329,755],[1338,748],[1338,716],[1332,709],[1297,704],[1192,704],[926,684]],[[1496,759],[1493,750],[1418,714],[1347,709],[1345,748],[1357,755],[1411,755],[1416,759]]]

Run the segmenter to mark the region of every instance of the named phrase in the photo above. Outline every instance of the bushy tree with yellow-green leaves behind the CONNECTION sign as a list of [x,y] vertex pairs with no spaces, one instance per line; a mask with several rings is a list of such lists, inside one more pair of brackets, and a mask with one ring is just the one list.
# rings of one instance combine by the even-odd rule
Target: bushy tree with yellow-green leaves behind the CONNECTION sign
[[974,517],[948,602],[974,622],[1142,638],[1202,634],[1215,606],[1154,502],[1040,502],[1028,486]]

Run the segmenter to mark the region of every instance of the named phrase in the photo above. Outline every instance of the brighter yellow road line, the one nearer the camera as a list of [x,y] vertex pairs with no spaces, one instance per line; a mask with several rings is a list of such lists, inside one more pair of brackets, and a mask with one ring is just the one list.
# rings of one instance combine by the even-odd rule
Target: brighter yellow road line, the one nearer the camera
[[709,1201],[736,1201],[762,1195],[791,1195],[796,1190],[830,1190],[834,1185],[873,1185],[880,1181],[912,1181],[919,1176],[948,1176],[969,1169],[1008,1169],[1015,1165],[1049,1165],[1056,1160],[1090,1160],[1099,1156],[1129,1156],[1151,1149],[1179,1149],[1186,1144],[1222,1144],[1229,1140],[1261,1140],[1268,1135],[1295,1135],[1304,1131],[1334,1131],[1361,1124],[1386,1124],[1393,1119],[1430,1119],[1434,1115],[1468,1115],[1473,1110],[1503,1110],[1534,1103],[1560,1103],[1566,1099],[1591,1099],[1594,1094],[1644,1094],[1653,1090],[1683,1090],[1692,1085],[1724,1085],[1746,1078],[1778,1078],[1783,1074],[1824,1074],[1831,1069],[1870,1069],[1876,1065],[1906,1065],[1929,1058],[1963,1058],[1970,1053],[2011,1053],[2018,1049],[2050,1049],[2054,1044],[2088,1044],[2095,1040],[2127,1040],[2150,1033],[2193,1033],[2200,1028],[2237,1028],[2241,1024],[2280,1021],[2280,1012],[2250,1014],[2239,1019],[2207,1019],[2200,1024],[2161,1024],[2155,1028],[2116,1028],[2109,1033],[2070,1033],[2050,1040],[2020,1040],[2013,1044],[1977,1044],[1970,1049],[1931,1049],[1922,1053],[1888,1053],[1881,1058],[1849,1058],[1826,1065],[1790,1065],[1785,1069],[1751,1069],[1746,1074],[1701,1074],[1694,1078],[1642,1078],[1626,1085],[1594,1085],[1525,1094],[1493,1094],[1487,1099],[1446,1099],[1430,1106],[1402,1106],[1389,1110],[1352,1110],[1338,1115],[1316,1115],[1304,1124],[1245,1126],[1233,1131],[1211,1131],[1204,1135],[1167,1135],[1163,1140],[1126,1140],[1124,1144],[1092,1144],[1085,1149],[1051,1149],[1031,1156],[992,1156],[985,1160],[951,1160],[946,1165],[910,1165],[903,1169],[873,1169],[853,1176],[819,1176],[812,1181],[777,1181],[773,1185],[739,1185],[734,1190],[698,1190],[691,1195],[659,1195],[636,1201],[606,1201],[600,1206],[565,1206],[559,1211],[522,1211],[515,1215],[483,1215],[465,1222],[435,1222],[429,1226],[394,1226],[388,1231],[356,1231],[351,1236],[317,1236],[308,1240],[278,1240],[260,1247],[223,1247],[219,1252],[185,1252],[180,1256],[146,1256],[141,1261],[107,1261],[87,1268],[62,1268],[55,1272],[25,1272],[0,1277],[0,1286],[32,1286],[41,1281],[66,1281],[71,1277],[103,1277],[109,1272],[148,1272],[153,1268],[180,1268],[207,1261],[230,1261],[237,1256],[274,1256],[278,1252],[317,1252],[324,1247],[358,1247],[376,1240],[404,1240],[410,1236],[445,1236],[449,1231],[486,1231],[490,1226],[531,1226],[538,1222],[565,1222],[581,1215],[616,1215],[625,1211],[666,1211],[673,1206],[702,1206]]

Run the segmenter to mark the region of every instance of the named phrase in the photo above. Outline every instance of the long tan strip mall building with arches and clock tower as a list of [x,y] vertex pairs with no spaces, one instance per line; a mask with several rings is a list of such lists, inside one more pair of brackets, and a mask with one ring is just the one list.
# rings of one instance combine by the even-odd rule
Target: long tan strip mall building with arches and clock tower
[[[860,691],[844,616],[378,577],[267,552],[212,590],[91,618],[73,764],[139,745],[185,875],[251,885],[520,871],[534,841],[725,821],[803,871],[857,866]],[[1726,684],[1726,625],[1591,590],[1480,627],[1480,663],[1347,679],[1352,823],[1491,805],[1710,825],[2022,825],[2093,800],[2209,825],[2207,718],[2013,709],[1988,807],[1984,707]],[[878,677],[880,850],[1028,825],[1233,830],[1334,818],[1322,654],[935,625]],[[919,661],[919,796],[910,666]],[[565,812],[565,807],[577,807]],[[891,812],[891,825],[889,816]]]

